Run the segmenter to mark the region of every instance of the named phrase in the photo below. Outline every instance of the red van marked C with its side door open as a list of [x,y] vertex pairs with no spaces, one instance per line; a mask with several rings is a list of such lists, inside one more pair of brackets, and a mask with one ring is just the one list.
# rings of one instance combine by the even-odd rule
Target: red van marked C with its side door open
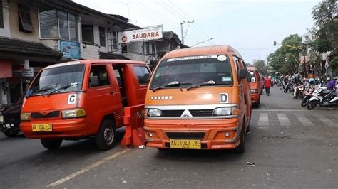
[[[150,70],[131,60],[80,60],[43,68],[27,92],[20,129],[44,147],[95,136],[98,148],[115,143],[123,108],[143,104]],[[54,84],[54,82],[56,82]]]

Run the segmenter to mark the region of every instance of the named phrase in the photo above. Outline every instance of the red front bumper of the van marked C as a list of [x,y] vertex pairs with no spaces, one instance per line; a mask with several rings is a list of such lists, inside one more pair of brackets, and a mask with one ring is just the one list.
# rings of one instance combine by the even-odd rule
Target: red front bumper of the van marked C
[[[53,129],[51,132],[33,132],[32,124],[52,124]],[[93,134],[93,127],[86,118],[21,121],[20,129],[26,137],[34,139],[73,139]]]

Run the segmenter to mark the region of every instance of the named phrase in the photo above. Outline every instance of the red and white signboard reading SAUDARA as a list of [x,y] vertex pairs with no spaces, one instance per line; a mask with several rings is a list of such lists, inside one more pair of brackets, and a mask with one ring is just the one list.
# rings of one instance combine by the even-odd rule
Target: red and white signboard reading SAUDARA
[[118,43],[132,43],[135,41],[153,41],[163,38],[162,26],[143,28],[131,31],[121,31],[118,33]]

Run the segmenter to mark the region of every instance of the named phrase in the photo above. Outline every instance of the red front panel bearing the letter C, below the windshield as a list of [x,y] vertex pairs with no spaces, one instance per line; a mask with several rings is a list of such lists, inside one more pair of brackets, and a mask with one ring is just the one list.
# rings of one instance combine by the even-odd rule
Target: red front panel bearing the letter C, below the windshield
[[41,112],[78,107],[79,95],[76,95],[75,103],[68,102],[70,95],[76,95],[76,92],[58,93],[49,95],[48,97],[47,95],[26,97],[26,99],[24,99],[24,103],[22,104],[21,112]]

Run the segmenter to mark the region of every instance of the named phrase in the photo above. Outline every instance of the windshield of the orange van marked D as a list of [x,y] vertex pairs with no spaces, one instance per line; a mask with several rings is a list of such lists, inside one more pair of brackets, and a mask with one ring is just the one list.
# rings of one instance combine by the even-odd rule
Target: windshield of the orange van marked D
[[188,84],[177,87],[191,87],[209,80],[215,81],[215,85],[232,85],[227,56],[208,55],[163,60],[154,73],[150,89],[173,81]]

